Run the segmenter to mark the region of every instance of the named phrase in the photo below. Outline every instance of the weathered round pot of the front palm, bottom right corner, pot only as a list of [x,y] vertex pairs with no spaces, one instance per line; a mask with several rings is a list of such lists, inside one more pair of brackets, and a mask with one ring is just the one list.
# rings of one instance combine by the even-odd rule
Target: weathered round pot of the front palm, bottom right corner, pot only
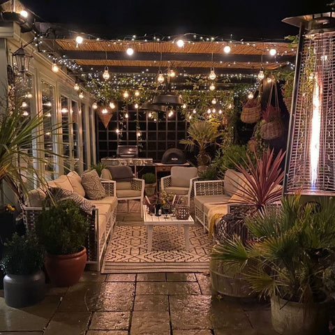
[[274,330],[285,335],[329,334],[329,304],[306,306],[279,297],[271,298],[271,321]]

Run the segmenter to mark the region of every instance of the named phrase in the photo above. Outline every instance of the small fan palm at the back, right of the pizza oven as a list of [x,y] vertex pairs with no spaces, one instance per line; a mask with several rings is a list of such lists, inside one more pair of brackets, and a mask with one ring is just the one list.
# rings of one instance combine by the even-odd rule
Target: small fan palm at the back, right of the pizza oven
[[193,150],[198,147],[199,153],[197,156],[198,165],[207,165],[210,157],[206,152],[209,145],[216,142],[218,137],[223,133],[218,131],[218,126],[207,121],[195,121],[187,130],[188,138],[180,140],[181,144],[186,144],[186,149]]

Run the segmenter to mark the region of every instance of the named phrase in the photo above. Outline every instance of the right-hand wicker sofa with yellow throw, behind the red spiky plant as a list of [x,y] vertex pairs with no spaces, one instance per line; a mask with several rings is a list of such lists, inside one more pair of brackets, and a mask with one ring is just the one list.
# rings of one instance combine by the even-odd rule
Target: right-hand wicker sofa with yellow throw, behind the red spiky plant
[[240,197],[236,194],[244,181],[243,174],[230,169],[225,172],[223,180],[195,181],[195,221],[204,226],[204,231],[211,234],[219,218],[237,210],[237,207],[245,206],[239,202]]

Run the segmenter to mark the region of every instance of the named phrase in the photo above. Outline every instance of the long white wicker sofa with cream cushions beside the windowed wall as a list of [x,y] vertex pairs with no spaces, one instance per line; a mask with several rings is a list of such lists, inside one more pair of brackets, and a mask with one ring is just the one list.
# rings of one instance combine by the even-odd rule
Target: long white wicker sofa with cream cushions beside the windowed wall
[[[81,184],[81,177],[77,172],[69,172],[59,178],[49,181],[47,186],[36,188],[28,193],[26,205],[22,207],[24,225],[26,229],[34,229],[36,219],[43,209],[46,197],[46,188],[61,188],[75,195],[76,199],[85,204],[91,204],[91,211],[87,211],[87,220],[90,228],[87,236],[87,265],[89,268],[100,271],[101,260],[112,232],[117,213],[117,196],[115,181],[101,181],[105,188],[105,197],[99,200],[84,198],[85,191]],[[86,200],[85,200],[86,199]]]

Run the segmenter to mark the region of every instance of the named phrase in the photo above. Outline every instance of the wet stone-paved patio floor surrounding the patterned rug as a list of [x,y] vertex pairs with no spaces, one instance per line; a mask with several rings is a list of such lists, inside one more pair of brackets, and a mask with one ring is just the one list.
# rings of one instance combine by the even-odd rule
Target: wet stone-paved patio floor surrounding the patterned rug
[[[118,208],[118,221],[140,221]],[[211,290],[208,273],[99,274],[70,288],[49,284],[43,301],[10,308],[0,290],[0,334],[269,335],[269,302]]]

